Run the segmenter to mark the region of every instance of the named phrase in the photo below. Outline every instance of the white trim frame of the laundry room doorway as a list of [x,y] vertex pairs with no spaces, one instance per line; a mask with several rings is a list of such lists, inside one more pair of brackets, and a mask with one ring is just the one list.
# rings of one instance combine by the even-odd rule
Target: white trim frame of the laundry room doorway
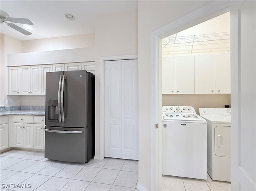
[[230,1],[214,1],[151,33],[151,190],[160,189],[162,176],[162,130],[155,128],[162,121],[161,40],[228,11]]

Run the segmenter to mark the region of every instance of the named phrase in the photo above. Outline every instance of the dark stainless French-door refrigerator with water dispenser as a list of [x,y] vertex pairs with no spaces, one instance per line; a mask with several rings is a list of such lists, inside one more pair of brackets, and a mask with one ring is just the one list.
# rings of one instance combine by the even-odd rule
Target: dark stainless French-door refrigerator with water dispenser
[[87,162],[95,155],[95,75],[46,73],[45,158]]

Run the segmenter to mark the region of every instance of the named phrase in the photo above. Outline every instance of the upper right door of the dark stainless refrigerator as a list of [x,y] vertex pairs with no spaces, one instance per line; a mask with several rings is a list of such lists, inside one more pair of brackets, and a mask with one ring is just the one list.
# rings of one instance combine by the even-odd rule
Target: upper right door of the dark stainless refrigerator
[[64,127],[87,127],[86,71],[64,71]]

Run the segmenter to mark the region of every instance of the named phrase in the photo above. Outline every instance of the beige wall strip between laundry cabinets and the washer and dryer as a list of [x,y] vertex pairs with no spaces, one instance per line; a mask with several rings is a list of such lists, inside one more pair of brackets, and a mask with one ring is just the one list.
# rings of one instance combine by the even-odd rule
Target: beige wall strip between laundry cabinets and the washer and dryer
[[230,106],[230,94],[180,94],[180,95],[162,95],[162,106],[181,105],[193,106],[196,113],[199,114],[200,107],[206,108],[224,108]]

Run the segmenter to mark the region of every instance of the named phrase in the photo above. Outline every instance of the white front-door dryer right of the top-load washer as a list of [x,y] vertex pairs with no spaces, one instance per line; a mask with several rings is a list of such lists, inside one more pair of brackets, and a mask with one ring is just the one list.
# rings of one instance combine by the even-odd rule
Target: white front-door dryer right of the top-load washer
[[230,108],[199,108],[207,121],[207,171],[213,180],[230,178]]

